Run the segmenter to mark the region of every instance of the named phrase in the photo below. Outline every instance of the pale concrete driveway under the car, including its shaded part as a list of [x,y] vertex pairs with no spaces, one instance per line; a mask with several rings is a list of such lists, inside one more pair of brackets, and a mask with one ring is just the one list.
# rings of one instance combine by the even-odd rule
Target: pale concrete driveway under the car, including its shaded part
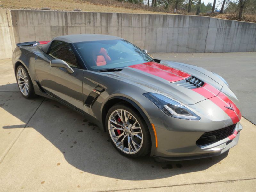
[[[174,56],[183,62],[183,54]],[[240,141],[228,154],[168,163],[127,159],[83,116],[53,100],[24,99],[10,59],[0,60],[0,69],[1,192],[255,191],[256,126],[244,118]]]

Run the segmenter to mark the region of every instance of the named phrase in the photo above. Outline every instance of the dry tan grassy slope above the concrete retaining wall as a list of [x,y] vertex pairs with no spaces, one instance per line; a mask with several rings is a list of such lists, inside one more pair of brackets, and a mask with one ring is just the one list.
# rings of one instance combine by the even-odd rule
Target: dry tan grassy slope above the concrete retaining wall
[[[40,10],[42,7],[49,7],[51,8],[51,10],[58,11],[73,11],[74,9],[79,8],[82,11],[87,12],[172,14],[166,12],[159,12],[158,9],[154,10],[144,5],[141,6],[129,3],[122,4],[119,1],[116,2],[113,0],[0,0],[0,9],[2,8]],[[187,12],[180,13],[187,14]],[[216,17],[229,20],[236,20],[237,18],[235,14],[218,13],[202,14],[202,16]],[[245,15],[243,21],[256,23],[256,15]]]

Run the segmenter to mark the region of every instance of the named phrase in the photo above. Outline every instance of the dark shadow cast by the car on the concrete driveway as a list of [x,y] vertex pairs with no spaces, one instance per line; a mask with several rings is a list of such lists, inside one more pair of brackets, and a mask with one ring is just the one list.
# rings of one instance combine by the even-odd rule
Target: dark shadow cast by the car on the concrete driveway
[[[113,148],[106,132],[58,102],[42,97],[27,100],[18,91],[0,92],[0,95],[0,107],[25,123],[4,126],[3,129],[25,126],[22,137],[28,137],[26,128],[32,127],[58,148],[69,164],[84,172],[123,180],[151,180],[206,170],[228,155],[161,163],[149,155],[126,158]],[[25,105],[39,106],[29,122],[28,117],[17,112],[17,108],[23,108],[23,113],[31,112]]]

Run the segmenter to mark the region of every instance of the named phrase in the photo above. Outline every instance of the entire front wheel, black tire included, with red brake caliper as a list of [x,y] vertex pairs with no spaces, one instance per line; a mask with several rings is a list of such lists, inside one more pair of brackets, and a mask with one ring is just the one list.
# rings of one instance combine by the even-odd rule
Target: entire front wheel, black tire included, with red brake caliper
[[149,130],[134,108],[122,103],[111,107],[106,116],[106,127],[112,144],[122,155],[136,158],[149,153]]

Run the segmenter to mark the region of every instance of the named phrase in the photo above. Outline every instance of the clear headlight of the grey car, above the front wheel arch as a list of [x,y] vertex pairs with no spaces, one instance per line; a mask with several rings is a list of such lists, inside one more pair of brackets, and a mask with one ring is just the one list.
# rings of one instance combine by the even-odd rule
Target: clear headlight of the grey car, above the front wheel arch
[[143,95],[169,116],[180,119],[200,120],[200,117],[191,110],[164,95],[157,93],[144,93]]

